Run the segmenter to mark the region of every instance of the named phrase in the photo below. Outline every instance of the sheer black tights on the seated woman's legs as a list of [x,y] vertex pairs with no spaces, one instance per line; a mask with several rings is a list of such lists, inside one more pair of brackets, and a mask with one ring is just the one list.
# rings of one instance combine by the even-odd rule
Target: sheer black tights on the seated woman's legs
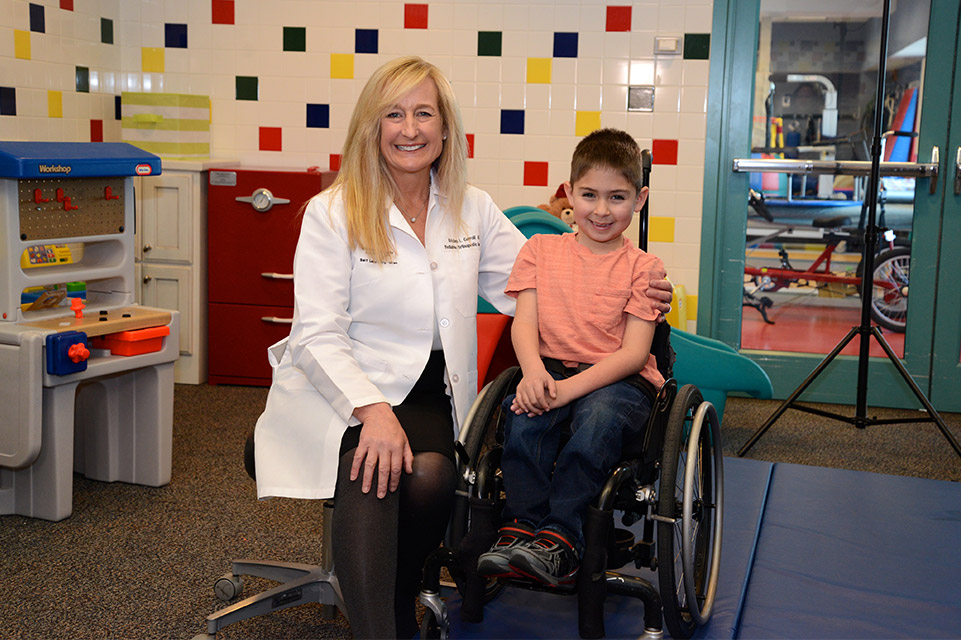
[[[350,481],[354,449],[340,458],[334,494],[334,567],[355,638],[410,638],[427,555],[444,538],[456,484],[447,456],[414,454],[414,472],[378,498]],[[376,482],[376,478],[375,478]]]

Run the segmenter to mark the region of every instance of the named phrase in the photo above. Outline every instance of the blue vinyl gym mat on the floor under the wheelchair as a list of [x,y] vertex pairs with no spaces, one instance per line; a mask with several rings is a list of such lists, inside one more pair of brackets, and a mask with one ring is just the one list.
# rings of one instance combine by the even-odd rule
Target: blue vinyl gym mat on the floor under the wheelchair
[[[961,484],[740,458],[724,473],[718,594],[696,638],[961,637]],[[456,595],[448,609],[452,638],[578,637],[574,596],[508,588],[479,624]],[[605,625],[636,638],[643,606],[610,595]]]

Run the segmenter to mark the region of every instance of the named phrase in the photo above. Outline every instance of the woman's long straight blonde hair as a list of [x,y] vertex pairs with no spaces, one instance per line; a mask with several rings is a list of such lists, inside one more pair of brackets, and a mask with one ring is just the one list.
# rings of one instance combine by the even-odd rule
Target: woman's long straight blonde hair
[[347,238],[351,249],[362,248],[379,261],[394,256],[387,222],[390,203],[397,195],[380,151],[381,120],[388,111],[425,79],[437,87],[437,106],[444,125],[440,156],[434,161],[438,188],[460,225],[460,210],[467,188],[467,136],[450,83],[436,66],[417,57],[397,58],[377,69],[367,81],[347,129],[340,172],[332,188],[340,189],[347,210]]

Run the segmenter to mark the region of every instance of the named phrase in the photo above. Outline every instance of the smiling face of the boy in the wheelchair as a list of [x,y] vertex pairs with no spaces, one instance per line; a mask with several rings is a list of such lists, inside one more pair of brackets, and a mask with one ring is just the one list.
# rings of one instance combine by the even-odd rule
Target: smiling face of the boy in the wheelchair
[[619,249],[621,234],[647,200],[647,187],[638,193],[619,171],[608,167],[588,169],[573,185],[565,182],[564,191],[574,208],[577,241],[593,253]]

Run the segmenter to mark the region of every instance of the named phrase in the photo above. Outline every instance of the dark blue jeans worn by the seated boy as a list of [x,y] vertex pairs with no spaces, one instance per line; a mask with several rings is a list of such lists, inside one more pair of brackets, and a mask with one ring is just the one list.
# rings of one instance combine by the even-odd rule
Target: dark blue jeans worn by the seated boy
[[[540,416],[515,414],[510,410],[513,399],[510,395],[504,400],[503,518],[528,522],[538,531],[557,531],[580,555],[584,512],[624,446],[643,435],[651,399],[623,380]],[[571,437],[558,451],[567,418]]]

